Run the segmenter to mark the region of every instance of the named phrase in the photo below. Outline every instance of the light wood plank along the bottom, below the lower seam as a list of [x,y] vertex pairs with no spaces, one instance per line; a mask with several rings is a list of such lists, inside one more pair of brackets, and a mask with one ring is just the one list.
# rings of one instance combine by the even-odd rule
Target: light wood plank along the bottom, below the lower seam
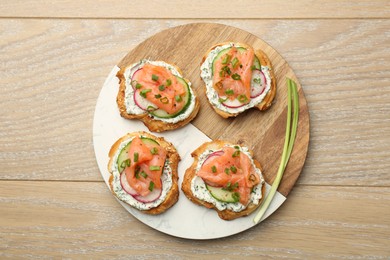
[[104,183],[1,181],[0,191],[2,258],[390,255],[389,188],[299,185],[265,222],[208,241],[175,238],[145,226]]

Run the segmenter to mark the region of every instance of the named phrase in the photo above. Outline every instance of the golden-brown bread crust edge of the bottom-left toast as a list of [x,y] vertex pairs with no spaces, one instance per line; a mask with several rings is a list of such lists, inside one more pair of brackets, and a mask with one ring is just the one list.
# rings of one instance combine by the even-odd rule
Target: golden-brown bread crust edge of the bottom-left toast
[[[113,163],[115,163],[114,160],[113,160],[114,155],[117,152],[117,150],[119,149],[119,145],[124,140],[132,138],[132,137],[135,137],[135,136],[144,136],[144,137],[156,140],[160,144],[160,146],[163,147],[167,151],[167,159],[170,161],[171,168],[172,168],[172,188],[168,192],[165,200],[160,205],[158,205],[155,208],[151,208],[149,210],[140,210],[143,213],[151,214],[151,215],[161,214],[164,211],[166,211],[167,209],[169,209],[170,207],[172,207],[179,199],[179,186],[178,186],[179,175],[178,175],[178,172],[177,172],[177,168],[178,168],[178,164],[179,164],[179,161],[180,161],[180,156],[177,153],[176,148],[173,146],[172,143],[166,141],[163,137],[156,137],[156,136],[154,136],[152,134],[149,134],[147,132],[140,131],[140,132],[128,133],[125,136],[122,136],[121,138],[119,138],[112,145],[112,147],[111,147],[111,149],[110,149],[110,151],[108,153],[108,156],[110,158],[110,160],[108,162],[108,171],[111,174],[110,178],[109,178],[110,189],[111,189],[111,192],[114,194],[114,196],[116,196],[116,194],[114,192],[114,189],[113,189],[113,183],[112,182],[113,182],[114,178],[113,178],[113,173],[112,173],[112,170],[111,170],[112,166],[113,166]],[[120,199],[120,198],[118,198],[118,199]]]

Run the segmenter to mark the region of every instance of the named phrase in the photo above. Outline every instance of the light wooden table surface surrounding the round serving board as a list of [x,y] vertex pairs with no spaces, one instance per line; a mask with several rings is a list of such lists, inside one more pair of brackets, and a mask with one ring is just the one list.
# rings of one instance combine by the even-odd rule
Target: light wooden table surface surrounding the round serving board
[[[286,202],[254,228],[207,241],[165,235],[124,210],[92,136],[112,67],[155,33],[193,22],[271,45],[310,112],[308,156]],[[2,1],[0,75],[2,259],[390,258],[386,0]]]

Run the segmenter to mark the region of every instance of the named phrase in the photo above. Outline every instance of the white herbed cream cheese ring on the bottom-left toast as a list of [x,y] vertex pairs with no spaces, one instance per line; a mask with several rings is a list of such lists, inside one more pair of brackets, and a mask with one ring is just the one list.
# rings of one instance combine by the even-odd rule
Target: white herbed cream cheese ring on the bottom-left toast
[[121,181],[120,181],[120,172],[118,170],[118,156],[121,152],[121,150],[133,140],[133,138],[127,139],[123,141],[119,145],[119,149],[116,151],[114,157],[113,157],[113,164],[111,168],[111,172],[113,174],[113,182],[112,182],[112,188],[113,192],[116,194],[116,196],[129,204],[130,206],[137,208],[139,210],[149,210],[151,208],[155,208],[158,205],[160,205],[165,198],[167,197],[168,192],[171,190],[173,182],[172,182],[172,169],[170,166],[169,161],[165,162],[163,174],[161,175],[161,182],[162,182],[162,192],[160,197],[153,201],[153,202],[140,202],[136,200],[133,196],[131,196],[129,193],[127,193],[125,190],[123,190]]

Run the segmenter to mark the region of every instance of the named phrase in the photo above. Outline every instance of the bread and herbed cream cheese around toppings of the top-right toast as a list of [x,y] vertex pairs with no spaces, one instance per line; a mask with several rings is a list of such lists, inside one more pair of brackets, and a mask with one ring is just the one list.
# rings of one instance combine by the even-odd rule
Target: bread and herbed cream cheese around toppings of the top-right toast
[[[206,71],[206,75],[208,75],[208,77],[205,77],[205,78],[202,77],[202,80],[205,82],[206,96],[208,97],[209,103],[211,104],[212,108],[215,110],[216,113],[218,113],[223,118],[236,117],[240,113],[242,113],[242,112],[244,112],[247,109],[250,109],[252,107],[255,107],[261,111],[267,110],[272,105],[272,102],[273,102],[275,95],[276,95],[276,79],[275,79],[275,74],[274,74],[274,70],[273,70],[272,63],[271,63],[270,59],[260,49],[255,49],[254,53],[255,53],[255,57],[257,57],[257,59],[259,60],[261,67],[268,68],[267,70],[265,70],[263,72],[263,73],[267,73],[268,79],[270,81],[269,83],[267,82],[267,85],[269,84],[269,88],[266,89],[266,94],[261,95],[261,97],[262,97],[261,99],[257,98],[255,103],[253,103],[249,106],[243,106],[242,108],[230,108],[230,107],[223,106],[222,104],[218,105],[216,103],[217,101],[212,101],[211,97],[213,97],[213,96],[215,97],[215,94],[212,95],[211,93],[215,93],[215,91],[213,91],[211,89],[211,88],[213,88],[213,83],[212,83],[212,72],[211,72],[212,71],[212,68],[211,68],[212,62],[210,61],[210,58],[215,57],[219,53],[219,52],[213,53],[212,52],[213,50],[215,50],[217,47],[222,47],[222,50],[223,50],[223,46],[227,46],[227,48],[229,46],[236,46],[236,47],[242,47],[245,49],[249,49],[249,48],[252,49],[251,46],[249,46],[245,43],[223,42],[223,43],[219,43],[219,44],[212,46],[204,54],[204,56],[202,58],[202,62],[201,62],[201,69],[208,70],[209,72]],[[203,74],[203,72],[202,72],[202,74]],[[211,78],[210,78],[210,76],[211,76]]]

